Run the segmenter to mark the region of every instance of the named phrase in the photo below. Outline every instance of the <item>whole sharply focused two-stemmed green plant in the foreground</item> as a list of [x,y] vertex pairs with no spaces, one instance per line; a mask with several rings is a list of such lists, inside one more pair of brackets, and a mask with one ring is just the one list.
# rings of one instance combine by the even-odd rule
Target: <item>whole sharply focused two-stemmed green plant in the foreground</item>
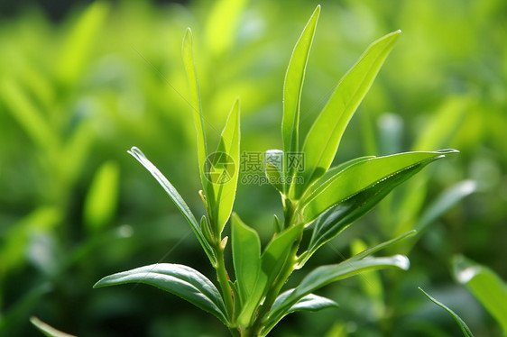
[[[235,100],[220,136],[217,150],[210,152],[202,114],[198,77],[193,58],[192,34],[188,30],[182,46],[191,91],[190,103],[197,130],[198,166],[202,190],[199,195],[206,214],[198,218],[178,191],[143,152],[129,151],[171,197],[196,234],[217,273],[217,286],[196,269],[160,263],[120,272],[97,282],[95,287],[145,283],[160,287],[214,314],[233,336],[265,336],[281,319],[296,311],[317,311],[336,306],[328,298],[313,294],[339,279],[365,270],[397,267],[408,269],[403,255],[372,257],[373,253],[409,237],[415,231],[380,243],[338,264],[310,271],[298,287],[282,292],[291,273],[304,267],[312,255],[348,225],[367,213],[394,187],[422,168],[456,150],[413,151],[384,157],[362,157],[331,168],[346,125],[371,87],[400,31],[385,35],[364,52],[338,83],[300,146],[300,98],[309,50],[318,23],[320,6],[311,15],[292,52],[283,87],[281,123],[283,150],[266,152],[265,174],[281,195],[283,220],[274,217],[272,240],[262,248],[259,235],[232,212],[239,177],[240,105]],[[304,159],[302,167],[290,165],[290,156]],[[231,220],[232,273],[225,250],[228,237],[222,233]],[[303,244],[303,236],[309,243]]]

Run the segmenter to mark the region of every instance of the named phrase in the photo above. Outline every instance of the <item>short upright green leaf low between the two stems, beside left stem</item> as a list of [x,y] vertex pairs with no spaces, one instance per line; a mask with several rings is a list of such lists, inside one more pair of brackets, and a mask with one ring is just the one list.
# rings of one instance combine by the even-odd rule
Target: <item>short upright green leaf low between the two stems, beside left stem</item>
[[261,272],[261,241],[237,214],[232,218],[233,262],[241,303],[252,295]]

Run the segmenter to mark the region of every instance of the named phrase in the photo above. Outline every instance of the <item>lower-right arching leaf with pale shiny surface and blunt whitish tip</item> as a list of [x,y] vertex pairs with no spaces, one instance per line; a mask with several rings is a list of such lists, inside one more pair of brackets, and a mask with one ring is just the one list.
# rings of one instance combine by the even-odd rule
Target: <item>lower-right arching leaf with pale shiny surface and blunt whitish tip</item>
[[300,286],[291,289],[290,294],[279,301],[268,314],[267,322],[277,323],[281,320],[293,305],[296,305],[301,298],[308,296],[320,287],[343,278],[349,278],[367,270],[383,269],[386,267],[397,267],[407,270],[410,261],[406,256],[395,255],[389,258],[369,258],[364,260],[345,260],[339,264],[318,267],[310,272],[300,283]]

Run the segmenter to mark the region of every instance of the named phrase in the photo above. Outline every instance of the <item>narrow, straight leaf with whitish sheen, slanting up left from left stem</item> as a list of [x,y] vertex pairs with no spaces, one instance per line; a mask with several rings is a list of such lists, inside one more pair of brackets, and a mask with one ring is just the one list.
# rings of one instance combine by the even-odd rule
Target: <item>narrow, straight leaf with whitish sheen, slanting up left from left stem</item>
[[202,246],[202,248],[204,249],[204,251],[207,254],[207,258],[211,261],[211,264],[216,265],[217,259],[215,257],[215,254],[213,253],[213,250],[211,249],[211,247],[209,246],[209,243],[207,243],[206,238],[204,237],[203,233],[201,232],[200,225],[199,225],[198,221],[196,220],[196,217],[194,216],[194,214],[192,214],[192,212],[189,209],[189,206],[185,203],[185,201],[180,196],[180,194],[178,193],[176,188],[174,188],[171,185],[171,183],[169,182],[169,180],[161,174],[161,171],[158,168],[156,168],[152,164],[152,162],[144,156],[144,154],[141,150],[137,149],[136,147],[133,147],[131,150],[129,150],[127,152],[130,153],[141,164],[143,164],[143,167],[148,169],[148,171],[150,171],[152,176],[155,179],[157,179],[159,184],[161,184],[161,187],[163,187],[163,189],[171,197],[171,200],[174,203],[174,205],[176,205],[178,207],[181,214],[183,214],[183,216],[185,216],[185,218],[189,222],[190,227],[194,231],[194,234],[196,234],[196,237],[198,238],[200,245]]

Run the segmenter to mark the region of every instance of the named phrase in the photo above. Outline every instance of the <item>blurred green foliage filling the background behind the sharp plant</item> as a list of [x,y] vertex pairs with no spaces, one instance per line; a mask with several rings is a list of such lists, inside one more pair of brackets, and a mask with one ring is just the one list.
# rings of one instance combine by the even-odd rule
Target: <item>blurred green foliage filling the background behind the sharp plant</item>
[[[459,335],[417,287],[453,308],[476,335],[501,335],[456,283],[451,262],[462,254],[507,279],[504,0],[3,3],[0,335],[37,335],[30,315],[79,336],[226,335],[211,315],[152,287],[92,290],[99,278],[155,262],[188,264],[213,278],[188,224],[125,150],[141,148],[201,214],[195,130],[182,98],[185,28],[194,33],[210,143],[240,96],[242,150],[280,149],[285,68],[319,3],[302,132],[369,43],[401,29],[336,163],[407,150],[461,154],[405,183],[313,266],[343,260],[355,238],[373,244],[410,230],[455,184],[466,181],[475,192],[410,247],[392,251],[409,254],[409,271],[327,287],[324,295],[339,308],[293,314],[273,335]],[[281,214],[279,196],[271,186],[240,184],[235,212],[267,239],[272,214]]]

